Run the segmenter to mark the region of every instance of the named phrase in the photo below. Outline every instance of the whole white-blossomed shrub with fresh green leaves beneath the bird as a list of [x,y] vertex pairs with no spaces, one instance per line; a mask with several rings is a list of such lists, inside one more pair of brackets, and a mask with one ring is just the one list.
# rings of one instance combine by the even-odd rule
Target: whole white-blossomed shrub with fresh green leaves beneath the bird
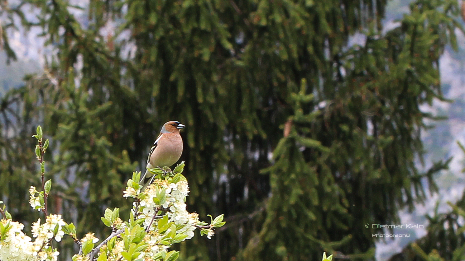
[[[150,169],[155,176],[153,183],[143,188],[139,184],[140,172],[134,172],[127,181],[123,196],[134,198],[129,220],[120,219],[118,208],[106,209],[102,222],[112,228],[112,233],[96,246],[100,240],[93,233],[78,239],[73,223],[67,224],[61,215],[47,213],[47,197],[52,187],[51,180],[44,180],[43,155],[48,147],[48,139],[42,144],[42,129],[37,128],[36,155],[40,162],[42,191],[34,186],[29,189],[29,204],[33,209],[42,211],[46,218],[33,223],[32,236],[25,235],[24,225],[13,222],[11,215],[0,208],[3,219],[0,220],[0,261],[56,261],[59,252],[52,247],[52,241],[61,241],[69,235],[79,245],[79,253],[73,261],[174,261],[178,251],[169,251],[173,244],[191,239],[194,230],[200,229],[200,235],[209,239],[214,235],[214,228],[223,226],[223,215],[211,222],[199,221],[197,213],[186,210],[186,196],[189,185],[182,175],[184,162],[173,171],[169,168]],[[0,204],[3,202],[0,201]]]

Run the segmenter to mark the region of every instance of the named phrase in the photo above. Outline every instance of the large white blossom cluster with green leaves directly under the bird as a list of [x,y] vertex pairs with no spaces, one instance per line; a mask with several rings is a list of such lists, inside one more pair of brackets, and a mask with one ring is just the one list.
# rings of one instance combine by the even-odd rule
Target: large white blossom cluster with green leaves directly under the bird
[[[136,199],[133,203],[132,215],[135,220],[142,222],[146,229],[144,237],[146,245],[144,245],[145,250],[138,256],[140,259],[145,261],[166,259],[171,254],[176,254],[173,253],[176,251],[168,252],[168,248],[172,244],[191,239],[195,229],[200,228],[201,235],[207,235],[210,239],[214,235],[214,227],[224,224],[221,215],[221,220],[217,219],[216,223],[212,221],[212,224],[206,226],[206,222],[199,221],[197,213],[189,213],[186,210],[189,185],[181,174],[183,167],[184,163],[181,163],[174,171],[153,170],[152,173],[158,175],[145,189],[140,188],[140,184],[135,182],[139,181],[140,173],[134,173],[133,179],[127,183],[123,196]],[[118,245],[120,243],[114,248]]]

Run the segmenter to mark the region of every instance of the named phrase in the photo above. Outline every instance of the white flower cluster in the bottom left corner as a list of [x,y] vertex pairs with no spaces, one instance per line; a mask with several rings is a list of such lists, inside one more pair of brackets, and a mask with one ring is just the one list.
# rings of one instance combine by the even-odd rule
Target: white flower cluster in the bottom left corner
[[24,225],[11,219],[0,220],[0,260],[2,261],[57,261],[60,254],[49,246],[51,239],[60,241],[66,223],[61,215],[49,215],[46,222],[33,223],[35,241],[22,232]]

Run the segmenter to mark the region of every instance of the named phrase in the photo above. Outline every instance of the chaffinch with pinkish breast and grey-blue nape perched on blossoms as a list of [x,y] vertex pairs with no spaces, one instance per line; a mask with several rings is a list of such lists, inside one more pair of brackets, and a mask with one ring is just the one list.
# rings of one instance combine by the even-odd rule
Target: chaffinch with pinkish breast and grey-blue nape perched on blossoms
[[[186,127],[178,121],[169,121],[163,124],[160,134],[152,145],[147,158],[147,169],[156,167],[170,167],[179,160],[182,154],[182,138],[179,131]],[[146,177],[153,176],[148,170],[140,177],[140,184],[144,182]],[[152,183],[153,177],[144,185],[144,188]]]

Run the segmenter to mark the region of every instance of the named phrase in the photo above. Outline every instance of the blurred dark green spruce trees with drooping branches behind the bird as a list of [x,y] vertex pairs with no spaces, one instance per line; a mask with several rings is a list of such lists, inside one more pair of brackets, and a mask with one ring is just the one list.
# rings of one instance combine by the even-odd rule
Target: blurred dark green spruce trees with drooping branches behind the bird
[[[186,124],[188,210],[227,225],[181,244],[179,260],[372,260],[365,224],[398,222],[447,166],[419,173],[414,161],[434,118],[420,106],[444,99],[438,59],[457,46],[454,0],[417,0],[385,33],[385,0],[2,5],[3,32],[39,26],[56,51],[1,98],[0,193],[15,220],[39,215],[27,204],[38,123],[58,187],[50,212],[100,238],[104,209],[130,208],[122,190],[161,124]],[[60,244],[73,253],[71,239]]]

